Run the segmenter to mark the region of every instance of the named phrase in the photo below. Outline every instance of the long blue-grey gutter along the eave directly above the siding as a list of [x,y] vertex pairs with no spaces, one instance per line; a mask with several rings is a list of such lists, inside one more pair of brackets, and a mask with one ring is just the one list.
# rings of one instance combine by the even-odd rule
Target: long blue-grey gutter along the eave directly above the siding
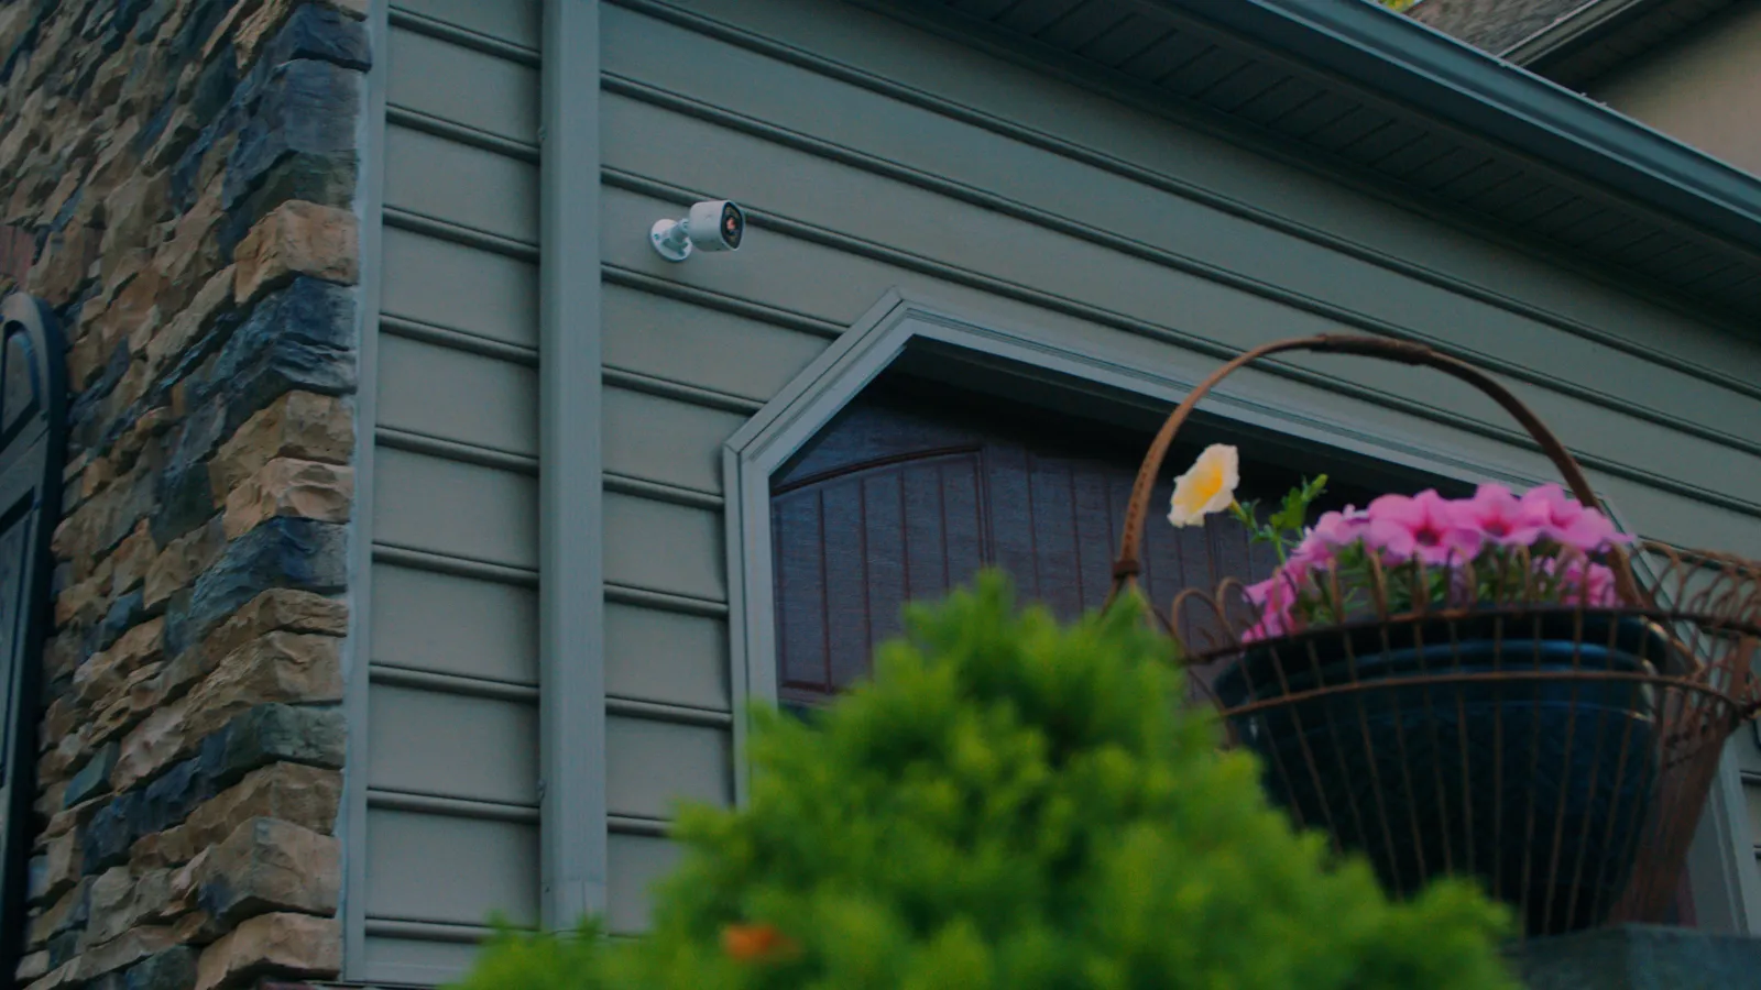
[[1138,0],[1761,248],[1761,180],[1370,0]]

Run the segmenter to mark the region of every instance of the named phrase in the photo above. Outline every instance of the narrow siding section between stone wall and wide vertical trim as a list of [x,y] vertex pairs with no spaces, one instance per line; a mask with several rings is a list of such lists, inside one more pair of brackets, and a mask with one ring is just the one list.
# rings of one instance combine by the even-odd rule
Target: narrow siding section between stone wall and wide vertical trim
[[539,41],[537,0],[391,7],[363,979],[537,920]]

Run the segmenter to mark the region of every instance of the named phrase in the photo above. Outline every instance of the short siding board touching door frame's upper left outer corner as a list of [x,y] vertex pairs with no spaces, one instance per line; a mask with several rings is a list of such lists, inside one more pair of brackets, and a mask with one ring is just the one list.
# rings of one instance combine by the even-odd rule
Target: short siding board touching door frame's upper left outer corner
[[622,388],[608,388],[602,402],[606,470],[722,490],[722,440],[745,425],[745,416]]

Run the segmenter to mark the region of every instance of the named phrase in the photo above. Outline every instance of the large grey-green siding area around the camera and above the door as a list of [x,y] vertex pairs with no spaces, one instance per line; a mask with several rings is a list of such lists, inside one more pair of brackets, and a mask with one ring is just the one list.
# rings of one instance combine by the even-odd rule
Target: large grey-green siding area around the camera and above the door
[[[727,802],[722,440],[888,289],[1187,370],[1338,329],[1513,379],[1647,536],[1761,553],[1761,349],[1671,303],[845,4],[602,4],[611,921],[671,861],[669,796]],[[736,255],[645,233],[748,206]],[[1280,407],[1518,476],[1477,393],[1294,358]]]

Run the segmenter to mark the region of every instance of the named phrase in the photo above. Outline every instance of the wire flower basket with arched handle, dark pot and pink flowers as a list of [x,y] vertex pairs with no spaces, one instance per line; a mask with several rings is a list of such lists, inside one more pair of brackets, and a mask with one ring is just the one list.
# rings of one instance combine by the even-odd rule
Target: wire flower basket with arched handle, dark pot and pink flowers
[[1189,588],[1159,613],[1271,798],[1405,895],[1476,875],[1530,935],[1662,921],[1726,738],[1757,708],[1761,567],[1632,544],[1536,416],[1426,347],[1312,336],[1250,351],[1169,416],[1138,474],[1115,565],[1132,592],[1150,490],[1197,402],[1282,351],[1428,365],[1477,386],[1571,493],[1389,495],[1305,527],[1323,484],[1261,521],[1231,447],[1180,477],[1169,521],[1231,511],[1280,565]]

